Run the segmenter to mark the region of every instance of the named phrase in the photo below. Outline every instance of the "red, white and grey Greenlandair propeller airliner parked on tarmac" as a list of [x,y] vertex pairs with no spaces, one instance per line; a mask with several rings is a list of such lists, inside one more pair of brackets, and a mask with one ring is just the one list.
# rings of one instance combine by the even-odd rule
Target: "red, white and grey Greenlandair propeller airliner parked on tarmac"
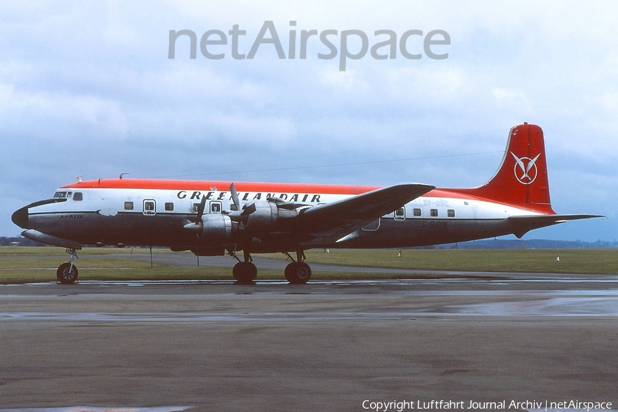
[[[25,238],[67,249],[57,281],[78,279],[73,264],[84,245],[169,247],[198,256],[238,260],[233,277],[258,275],[252,253],[284,253],[284,275],[305,284],[314,248],[407,248],[494,238],[567,220],[602,217],[556,214],[542,129],[514,126],[496,174],[480,187],[437,188],[422,183],[389,187],[97,179],[59,187],[49,199],[12,214]],[[242,252],[242,259],[238,254]],[[296,253],[296,259],[290,253]]]

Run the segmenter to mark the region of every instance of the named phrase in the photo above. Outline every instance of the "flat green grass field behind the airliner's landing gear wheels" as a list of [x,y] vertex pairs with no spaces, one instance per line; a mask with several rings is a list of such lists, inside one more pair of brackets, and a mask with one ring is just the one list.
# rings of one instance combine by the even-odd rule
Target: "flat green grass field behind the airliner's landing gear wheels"
[[[76,265],[80,279],[231,279],[229,268],[174,268],[135,259],[148,255],[148,249],[86,248],[80,251]],[[153,249],[152,253],[170,253]],[[285,259],[282,254],[269,255]],[[402,256],[392,249],[306,251],[307,262],[367,266],[376,268],[411,268],[420,271],[480,271],[530,273],[618,274],[618,249],[405,249]],[[560,257],[560,262],[557,262]],[[56,278],[56,268],[69,255],[55,247],[0,247],[0,284],[49,282]],[[411,277],[364,273],[315,273],[314,279],[367,279]],[[417,275],[416,277],[435,277]],[[279,271],[260,270],[259,279],[282,279]]]

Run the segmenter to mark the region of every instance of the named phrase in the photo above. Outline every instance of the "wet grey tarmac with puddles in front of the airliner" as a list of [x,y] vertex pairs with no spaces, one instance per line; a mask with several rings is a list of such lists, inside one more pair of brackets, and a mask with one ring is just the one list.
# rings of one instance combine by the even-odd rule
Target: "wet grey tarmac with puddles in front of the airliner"
[[617,275],[459,274],[0,286],[0,411],[618,409]]

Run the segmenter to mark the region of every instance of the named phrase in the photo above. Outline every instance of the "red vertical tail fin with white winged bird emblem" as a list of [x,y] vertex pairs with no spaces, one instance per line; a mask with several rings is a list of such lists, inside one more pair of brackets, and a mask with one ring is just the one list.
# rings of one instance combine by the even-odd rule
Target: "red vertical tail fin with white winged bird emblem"
[[543,130],[527,123],[512,128],[498,172],[485,185],[461,192],[543,214],[555,214],[549,201]]

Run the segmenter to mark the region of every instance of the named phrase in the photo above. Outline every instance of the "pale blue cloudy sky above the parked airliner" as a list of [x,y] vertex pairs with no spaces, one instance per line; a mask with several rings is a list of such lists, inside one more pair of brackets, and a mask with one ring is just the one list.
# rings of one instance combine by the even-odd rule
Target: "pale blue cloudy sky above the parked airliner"
[[[12,211],[78,175],[474,187],[494,174],[508,130],[529,122],[545,130],[553,208],[608,218],[526,237],[616,239],[617,15],[610,1],[2,2],[0,236],[20,232]],[[234,58],[266,21],[285,58],[273,43]],[[188,36],[168,58],[170,30],[198,42],[223,32],[227,45],[205,45],[222,58],[199,45],[190,58]],[[303,30],[318,35],[301,59]],[[335,58],[319,58],[325,30],[337,31]],[[369,50],[341,71],[346,30]],[[450,45],[431,52],[448,58],[410,36],[420,59],[399,47],[376,59],[377,30],[398,43],[443,30]],[[347,44],[361,52],[359,36]]]

